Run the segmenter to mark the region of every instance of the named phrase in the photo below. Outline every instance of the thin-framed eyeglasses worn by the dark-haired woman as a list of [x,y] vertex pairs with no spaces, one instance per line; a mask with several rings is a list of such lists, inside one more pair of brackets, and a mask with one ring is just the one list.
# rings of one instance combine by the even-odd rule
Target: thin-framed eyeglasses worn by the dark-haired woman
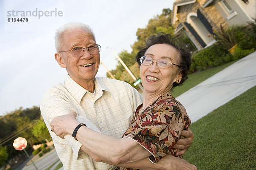
[[[140,62],[143,65],[151,65],[154,63],[155,59],[152,59],[151,57],[148,56],[143,56],[140,57]],[[171,65],[176,65],[178,67],[181,67],[180,65],[173,64],[169,59],[157,59],[157,66],[159,68],[169,68]]]

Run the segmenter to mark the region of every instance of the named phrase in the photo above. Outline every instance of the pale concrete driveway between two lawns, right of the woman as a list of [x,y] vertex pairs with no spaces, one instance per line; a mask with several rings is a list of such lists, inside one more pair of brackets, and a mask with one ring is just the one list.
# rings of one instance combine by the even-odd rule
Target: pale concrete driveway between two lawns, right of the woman
[[[176,97],[192,122],[256,85],[256,51]],[[256,94],[255,94],[256,95]]]

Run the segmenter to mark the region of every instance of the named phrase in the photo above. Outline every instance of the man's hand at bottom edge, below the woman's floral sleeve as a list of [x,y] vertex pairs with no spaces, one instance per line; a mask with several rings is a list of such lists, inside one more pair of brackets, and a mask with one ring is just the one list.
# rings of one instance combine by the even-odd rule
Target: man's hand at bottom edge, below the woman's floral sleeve
[[[197,170],[197,167],[193,164],[189,164],[188,161],[180,159],[178,157],[167,154],[160,161],[157,162],[159,170]],[[156,165],[157,165],[156,164]],[[155,170],[152,168],[145,170]]]

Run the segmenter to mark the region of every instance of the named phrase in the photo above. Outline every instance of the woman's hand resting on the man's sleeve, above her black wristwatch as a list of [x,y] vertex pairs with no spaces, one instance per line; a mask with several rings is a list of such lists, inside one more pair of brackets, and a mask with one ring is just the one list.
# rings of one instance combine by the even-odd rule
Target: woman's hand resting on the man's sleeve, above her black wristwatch
[[79,125],[79,122],[76,120],[76,115],[75,112],[72,112],[53,118],[52,122],[50,122],[52,132],[62,139],[64,139],[64,136],[67,134],[71,135],[76,126]]

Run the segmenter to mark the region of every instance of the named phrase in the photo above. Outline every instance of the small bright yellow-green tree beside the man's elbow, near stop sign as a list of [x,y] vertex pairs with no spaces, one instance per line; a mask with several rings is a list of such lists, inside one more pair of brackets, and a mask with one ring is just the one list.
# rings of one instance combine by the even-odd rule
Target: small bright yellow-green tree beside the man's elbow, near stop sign
[[38,122],[34,125],[33,129],[32,129],[32,133],[33,135],[44,141],[45,139],[52,139],[50,136],[50,133],[44,123],[44,121],[42,119],[38,120]]

